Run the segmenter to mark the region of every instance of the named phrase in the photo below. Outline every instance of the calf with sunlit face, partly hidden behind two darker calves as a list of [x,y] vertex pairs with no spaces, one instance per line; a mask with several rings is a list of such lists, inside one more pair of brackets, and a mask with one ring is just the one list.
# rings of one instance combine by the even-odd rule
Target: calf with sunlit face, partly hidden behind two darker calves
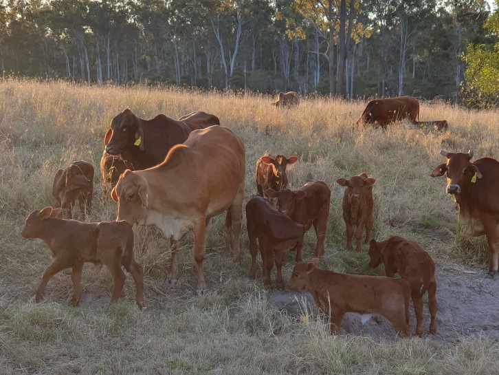
[[277,155],[274,158],[268,153],[256,160],[255,182],[258,195],[264,197],[268,189],[275,191],[286,189],[288,186],[286,166],[297,161],[298,156],[291,156],[288,159],[283,155]]

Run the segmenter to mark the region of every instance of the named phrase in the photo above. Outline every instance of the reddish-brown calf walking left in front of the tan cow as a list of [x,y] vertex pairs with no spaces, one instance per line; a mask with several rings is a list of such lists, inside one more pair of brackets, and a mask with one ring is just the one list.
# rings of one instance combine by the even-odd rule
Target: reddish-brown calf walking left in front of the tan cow
[[43,299],[49,279],[66,268],[72,268],[73,297],[71,306],[80,303],[80,280],[83,264],[105,264],[114,279],[111,303],[118,301],[123,290],[125,275],[121,266],[132,274],[135,281],[135,301],[144,307],[142,267],[133,259],[133,231],[126,222],[84,223],[58,219],[62,208],[43,208],[26,218],[21,235],[24,238],[43,239],[52,255],[52,264],[43,272],[36,289],[35,301]]

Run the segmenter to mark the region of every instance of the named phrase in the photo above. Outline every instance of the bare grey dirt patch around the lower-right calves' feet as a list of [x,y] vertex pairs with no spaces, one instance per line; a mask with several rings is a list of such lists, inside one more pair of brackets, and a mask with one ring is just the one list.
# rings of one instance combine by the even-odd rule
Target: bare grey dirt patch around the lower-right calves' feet
[[[483,334],[491,340],[499,341],[499,277],[493,280],[483,279],[484,272],[479,270],[458,270],[443,267],[436,273],[436,341],[452,343],[460,336]],[[428,334],[430,314],[425,298],[423,307],[423,332]],[[275,291],[270,297],[271,303],[279,310],[299,316],[304,306],[317,314],[317,308],[308,292]],[[414,334],[416,319],[412,301],[410,306],[410,328]],[[345,314],[342,321],[342,334],[364,334],[373,339],[381,337],[395,339],[395,330],[390,322],[379,315],[374,315],[362,324],[359,314]]]

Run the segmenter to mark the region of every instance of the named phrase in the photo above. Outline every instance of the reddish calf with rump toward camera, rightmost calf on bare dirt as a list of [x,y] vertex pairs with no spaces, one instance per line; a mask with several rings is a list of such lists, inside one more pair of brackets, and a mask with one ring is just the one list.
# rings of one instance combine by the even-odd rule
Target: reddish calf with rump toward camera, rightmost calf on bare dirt
[[428,291],[428,310],[430,310],[430,333],[436,334],[436,282],[435,264],[418,244],[401,237],[391,237],[386,241],[370,241],[369,266],[376,268],[383,263],[385,273],[393,277],[398,273],[409,283],[414,313],[416,314],[416,334],[423,330],[423,295]]

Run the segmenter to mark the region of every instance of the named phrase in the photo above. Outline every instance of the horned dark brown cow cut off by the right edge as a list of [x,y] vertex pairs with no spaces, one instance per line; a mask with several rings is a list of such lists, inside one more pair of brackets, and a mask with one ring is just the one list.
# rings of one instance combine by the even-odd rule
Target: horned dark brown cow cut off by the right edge
[[499,162],[480,158],[472,162],[473,152],[440,151],[447,158],[436,167],[432,177],[447,175],[447,193],[454,195],[459,205],[459,219],[467,234],[486,235],[489,243],[489,272],[493,278],[499,261]]

